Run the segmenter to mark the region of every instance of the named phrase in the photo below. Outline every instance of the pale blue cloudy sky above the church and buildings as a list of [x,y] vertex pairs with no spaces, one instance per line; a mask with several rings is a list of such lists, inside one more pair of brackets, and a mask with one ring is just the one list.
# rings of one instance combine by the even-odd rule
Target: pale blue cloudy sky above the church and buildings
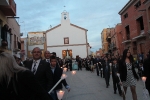
[[[28,1],[28,2],[27,2]],[[15,0],[24,36],[46,31],[60,24],[61,13],[69,12],[70,22],[88,30],[92,51],[102,47],[101,32],[121,22],[118,12],[129,0]],[[64,8],[64,6],[66,6]]]

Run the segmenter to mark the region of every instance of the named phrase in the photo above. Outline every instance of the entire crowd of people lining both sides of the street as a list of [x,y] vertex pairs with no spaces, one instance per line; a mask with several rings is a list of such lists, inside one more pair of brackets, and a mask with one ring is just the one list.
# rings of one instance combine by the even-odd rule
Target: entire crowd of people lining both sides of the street
[[33,58],[25,61],[8,52],[0,52],[0,100],[58,100],[57,91],[63,89],[62,85],[70,91],[65,79],[51,93],[48,92],[61,79],[64,67],[67,71],[73,70],[73,61],[77,62],[78,71],[83,67],[91,73],[96,70],[96,75],[105,79],[106,88],[109,88],[112,76],[114,94],[118,89],[123,100],[128,87],[133,100],[137,100],[136,80],[141,77],[146,77],[146,88],[150,93],[150,52],[146,59],[136,61],[129,49],[125,49],[122,56],[61,59],[50,51],[44,52],[44,59],[41,55],[39,47],[32,50]]

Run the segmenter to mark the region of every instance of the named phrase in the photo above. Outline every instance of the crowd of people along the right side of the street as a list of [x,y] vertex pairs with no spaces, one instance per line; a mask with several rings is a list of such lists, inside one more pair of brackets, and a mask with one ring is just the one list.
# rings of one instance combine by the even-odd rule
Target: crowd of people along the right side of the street
[[[118,89],[123,100],[126,100],[128,87],[132,92],[133,100],[137,100],[136,81],[141,77],[146,77],[146,88],[150,94],[150,52],[145,59],[139,57],[138,60],[135,60],[130,50],[125,49],[122,56],[104,55],[82,59],[82,66],[91,72],[96,69],[97,76],[105,78],[106,88],[109,87],[110,76],[112,76],[114,94]],[[123,86],[122,90],[121,86]]]

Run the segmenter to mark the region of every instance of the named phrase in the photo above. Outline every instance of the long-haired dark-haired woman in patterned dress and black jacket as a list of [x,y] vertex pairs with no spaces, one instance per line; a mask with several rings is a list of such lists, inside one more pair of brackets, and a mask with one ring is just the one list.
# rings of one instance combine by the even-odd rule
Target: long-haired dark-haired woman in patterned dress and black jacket
[[133,56],[129,49],[123,51],[123,57],[119,62],[119,73],[125,94],[127,87],[130,87],[133,100],[137,100],[136,79],[138,80],[139,78],[135,71]]

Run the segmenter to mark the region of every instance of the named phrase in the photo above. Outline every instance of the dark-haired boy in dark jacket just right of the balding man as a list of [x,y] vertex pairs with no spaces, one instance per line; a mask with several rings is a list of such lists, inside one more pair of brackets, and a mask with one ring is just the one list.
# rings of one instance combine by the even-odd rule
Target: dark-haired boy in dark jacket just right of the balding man
[[[63,70],[57,66],[57,59],[55,56],[51,56],[51,70],[53,73],[53,86],[61,79],[61,76],[63,74]],[[52,91],[51,96],[54,100],[58,100],[57,98],[57,90],[62,90],[63,86],[62,84],[65,86],[66,89],[68,89],[68,91],[70,91],[70,87],[67,84],[66,80],[63,79]]]

